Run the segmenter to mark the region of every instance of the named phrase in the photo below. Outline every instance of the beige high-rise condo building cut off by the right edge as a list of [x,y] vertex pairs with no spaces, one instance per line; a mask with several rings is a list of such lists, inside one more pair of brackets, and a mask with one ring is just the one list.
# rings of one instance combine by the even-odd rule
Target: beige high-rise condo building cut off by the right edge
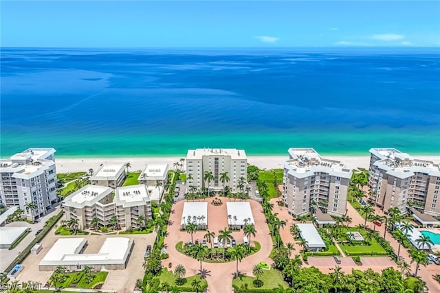
[[440,166],[413,159],[395,148],[370,150],[369,187],[371,200],[385,212],[398,207],[401,213],[414,207],[440,215]]

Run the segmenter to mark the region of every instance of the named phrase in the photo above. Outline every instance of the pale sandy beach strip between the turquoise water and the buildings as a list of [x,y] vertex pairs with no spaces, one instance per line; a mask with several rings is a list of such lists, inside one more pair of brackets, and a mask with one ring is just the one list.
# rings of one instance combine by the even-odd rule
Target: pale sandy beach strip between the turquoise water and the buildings
[[[322,156],[325,159],[342,161],[350,169],[363,167],[368,169],[370,163],[370,156]],[[56,172],[87,172],[90,168],[96,171],[101,164],[105,163],[130,163],[131,171],[144,169],[146,164],[173,164],[179,162],[183,157],[179,156],[164,156],[164,157],[121,157],[121,158],[56,158]],[[422,159],[426,161],[434,161],[440,163],[440,156],[414,156],[415,159]],[[256,165],[261,169],[282,168],[283,162],[289,159],[289,156],[248,156],[248,163]]]

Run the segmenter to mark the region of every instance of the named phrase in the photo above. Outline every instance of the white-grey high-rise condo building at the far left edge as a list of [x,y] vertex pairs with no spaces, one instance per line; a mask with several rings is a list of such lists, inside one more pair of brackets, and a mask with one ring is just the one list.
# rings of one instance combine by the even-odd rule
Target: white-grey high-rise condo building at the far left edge
[[45,215],[57,201],[55,152],[30,148],[1,159],[0,204],[20,207],[30,220]]

